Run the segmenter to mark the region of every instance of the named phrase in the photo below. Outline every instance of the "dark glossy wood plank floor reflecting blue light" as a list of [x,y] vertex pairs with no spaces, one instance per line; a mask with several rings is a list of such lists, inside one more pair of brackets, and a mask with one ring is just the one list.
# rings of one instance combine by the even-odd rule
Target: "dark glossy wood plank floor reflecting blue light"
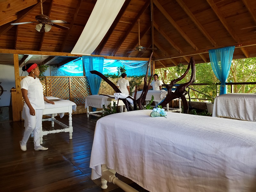
[[[60,122],[68,124],[68,116]],[[24,122],[0,123],[0,191],[111,191],[121,192],[113,183],[100,188],[100,178],[91,180],[90,156],[93,134],[99,118],[86,114],[73,115],[73,139],[68,133],[54,133],[43,137],[47,151],[35,151],[33,137],[27,143],[27,151],[21,151],[19,141],[24,132]],[[56,129],[60,127],[55,124]],[[43,122],[43,130],[52,130],[51,122]],[[121,175],[116,176],[139,191],[146,192]]]

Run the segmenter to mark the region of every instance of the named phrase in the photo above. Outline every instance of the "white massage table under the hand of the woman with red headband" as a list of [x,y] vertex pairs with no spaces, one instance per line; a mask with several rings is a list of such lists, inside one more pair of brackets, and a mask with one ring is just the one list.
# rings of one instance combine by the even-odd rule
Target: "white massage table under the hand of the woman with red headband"
[[[50,133],[59,133],[59,132],[69,132],[69,139],[72,139],[73,126],[72,126],[72,110],[76,111],[76,103],[70,100],[61,100],[57,97],[46,97],[48,100],[54,101],[54,105],[44,102],[45,109],[43,115],[51,116],[51,118],[44,118],[42,121],[52,121],[52,127],[54,127],[54,122],[59,124],[63,129],[55,129],[51,131],[43,131],[41,127],[40,132],[40,144],[43,143],[43,136]],[[60,118],[64,116],[64,113],[68,113],[68,125],[65,125],[54,118],[57,114],[60,115]]]

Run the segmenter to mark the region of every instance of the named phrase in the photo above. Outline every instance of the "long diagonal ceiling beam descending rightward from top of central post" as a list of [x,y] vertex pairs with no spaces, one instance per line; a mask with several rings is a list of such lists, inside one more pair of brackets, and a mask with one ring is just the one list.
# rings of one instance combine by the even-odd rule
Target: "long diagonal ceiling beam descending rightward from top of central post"
[[[169,15],[169,13],[167,11],[165,11],[164,7],[157,1],[157,0],[153,0],[154,4],[156,5],[156,7],[160,10],[160,12],[162,12],[162,14],[164,15],[164,17],[172,24],[172,26],[180,33],[180,35],[188,42],[188,44],[190,44],[193,49],[199,50],[196,45],[191,41],[191,39],[186,35],[186,33],[180,28],[180,26],[172,19],[172,17]],[[204,60],[204,62],[207,61],[206,57],[204,57],[203,54],[199,54],[199,56]]]

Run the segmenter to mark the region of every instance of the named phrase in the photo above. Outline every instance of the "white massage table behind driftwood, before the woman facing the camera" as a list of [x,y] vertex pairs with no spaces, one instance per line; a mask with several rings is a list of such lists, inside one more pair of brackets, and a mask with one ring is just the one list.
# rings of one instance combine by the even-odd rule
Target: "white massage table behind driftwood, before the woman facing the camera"
[[[137,99],[140,97],[141,93],[142,93],[142,91],[137,92],[137,94],[136,94]],[[148,90],[145,101],[147,101],[147,103],[148,103],[151,100],[151,97],[153,95],[154,96],[153,101],[159,103],[166,97],[166,94],[167,94],[167,91],[165,91],[165,90],[160,90],[160,91]],[[132,97],[134,97],[134,93],[132,94]],[[170,110],[170,112],[179,111],[181,113],[181,102],[180,102],[180,99],[178,99],[178,100],[179,100],[179,108],[169,108],[169,103],[167,103],[166,107],[164,107],[166,109],[166,111],[169,111],[169,110]],[[155,106],[153,106],[153,107],[155,107]]]

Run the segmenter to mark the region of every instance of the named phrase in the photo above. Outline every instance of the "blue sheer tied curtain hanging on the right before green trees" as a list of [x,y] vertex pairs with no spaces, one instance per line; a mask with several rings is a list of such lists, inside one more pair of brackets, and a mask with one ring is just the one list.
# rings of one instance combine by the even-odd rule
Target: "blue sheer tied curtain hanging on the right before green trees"
[[220,80],[220,95],[227,93],[227,78],[233,58],[235,46],[209,50],[212,70]]

